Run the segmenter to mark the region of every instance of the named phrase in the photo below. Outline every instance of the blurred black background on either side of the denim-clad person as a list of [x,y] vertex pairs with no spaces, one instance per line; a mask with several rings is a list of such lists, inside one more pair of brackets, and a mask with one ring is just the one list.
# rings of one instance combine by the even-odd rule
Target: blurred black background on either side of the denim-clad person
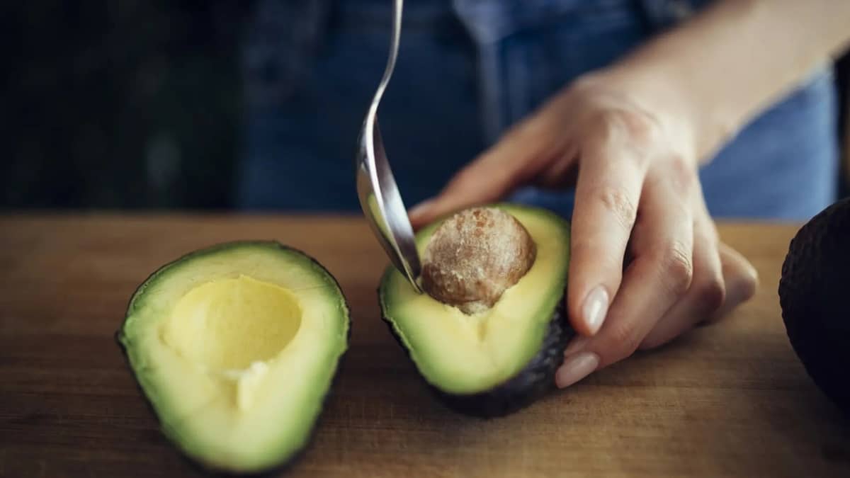
[[[0,208],[230,208],[251,9],[3,3]],[[842,93],[848,63],[838,68]]]

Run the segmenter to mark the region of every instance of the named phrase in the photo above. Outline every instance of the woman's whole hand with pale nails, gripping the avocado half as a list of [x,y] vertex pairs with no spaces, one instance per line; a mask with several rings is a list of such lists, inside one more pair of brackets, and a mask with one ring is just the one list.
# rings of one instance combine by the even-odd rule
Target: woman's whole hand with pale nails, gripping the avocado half
[[566,305],[581,335],[560,387],[723,316],[757,283],[718,240],[689,123],[630,92],[613,76],[582,78],[411,211],[419,227],[522,185],[575,184]]

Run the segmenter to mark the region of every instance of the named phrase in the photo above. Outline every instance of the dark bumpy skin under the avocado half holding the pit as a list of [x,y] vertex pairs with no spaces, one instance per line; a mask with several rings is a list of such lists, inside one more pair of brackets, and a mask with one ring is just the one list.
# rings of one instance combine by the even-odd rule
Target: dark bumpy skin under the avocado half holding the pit
[[[381,291],[378,289],[379,298],[380,293]],[[396,333],[393,323],[384,314],[382,314],[382,320],[401,349],[405,350],[407,358],[416,367],[410,350],[405,347],[404,341]],[[575,330],[570,326],[564,306],[564,297],[561,297],[558,299],[558,307],[549,320],[540,350],[513,378],[490,390],[469,395],[452,394],[439,390],[438,387],[429,383],[421,375],[420,378],[439,401],[457,413],[479,418],[503,417],[530,406],[534,401],[546,395],[548,391],[554,389],[555,372],[564,363],[564,349],[573,337],[575,337]]]

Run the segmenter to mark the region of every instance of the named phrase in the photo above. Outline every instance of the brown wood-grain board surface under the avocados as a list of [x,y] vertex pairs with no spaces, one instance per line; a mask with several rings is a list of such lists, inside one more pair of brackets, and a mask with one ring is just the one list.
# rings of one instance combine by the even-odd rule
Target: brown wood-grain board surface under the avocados
[[0,476],[201,475],[162,437],[114,339],[151,271],[194,248],[277,239],[331,270],[350,350],[292,476],[850,476],[850,420],[785,336],[794,225],[722,225],[761,286],[727,321],[632,356],[507,418],[434,401],[379,320],[386,260],[360,219],[0,217]]

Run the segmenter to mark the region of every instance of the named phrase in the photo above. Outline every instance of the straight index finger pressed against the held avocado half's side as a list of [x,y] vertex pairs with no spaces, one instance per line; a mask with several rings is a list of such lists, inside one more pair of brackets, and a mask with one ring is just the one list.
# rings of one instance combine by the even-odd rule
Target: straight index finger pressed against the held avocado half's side
[[602,327],[620,287],[623,258],[638,215],[642,157],[620,141],[592,138],[581,155],[570,236],[567,310],[582,335]]

